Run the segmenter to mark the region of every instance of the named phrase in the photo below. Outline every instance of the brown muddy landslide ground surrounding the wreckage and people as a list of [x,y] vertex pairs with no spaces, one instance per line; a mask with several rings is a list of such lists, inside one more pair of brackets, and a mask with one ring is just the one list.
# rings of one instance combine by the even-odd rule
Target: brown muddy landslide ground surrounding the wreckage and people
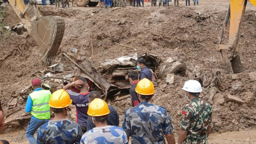
[[[205,77],[205,83],[211,82],[220,61],[217,51],[222,24],[229,5],[228,0],[201,0],[196,7],[185,7],[180,1],[180,7],[159,8],[146,6],[145,8],[113,8],[104,10],[95,8],[60,9],[55,7],[41,7],[44,16],[61,16],[65,20],[65,33],[55,62],[68,61],[62,57],[62,52],[68,53],[70,49],[78,49],[75,57],[86,56],[96,69],[106,59],[138,53],[141,55],[149,52],[157,55],[163,61],[169,57],[183,61],[187,71],[185,76],[175,75],[173,84],[166,84],[165,78],[158,79],[155,87],[155,104],[165,106],[174,123],[174,136],[178,137],[182,108],[188,103],[181,90],[185,81],[194,79],[195,76]],[[149,3],[146,3],[149,5]],[[245,139],[224,138],[213,134],[211,144],[248,144],[248,135],[245,128],[255,129],[256,126],[256,86],[249,77],[249,73],[256,72],[256,8],[247,4],[244,21],[241,26],[237,53],[241,57],[242,65],[246,71],[230,75],[221,72],[219,75],[222,85],[221,91],[216,93],[211,101],[209,87],[205,88],[201,96],[210,102],[213,107],[212,133],[225,133],[241,131]],[[10,6],[6,9],[3,24],[17,24],[19,19],[13,14]],[[196,12],[200,12],[198,15]],[[11,17],[11,18],[10,18]],[[227,27],[227,31],[229,27]],[[223,43],[228,42],[228,34],[224,36]],[[10,99],[10,93],[19,93],[26,88],[31,80],[39,78],[42,74],[38,70],[46,70],[38,56],[37,43],[24,32],[21,35],[11,35],[3,41],[0,36],[0,90],[1,103],[5,109]],[[93,55],[91,51],[91,40]],[[98,43],[102,42],[100,46]],[[114,44],[118,42],[131,48]],[[98,69],[110,80],[110,71]],[[159,69],[157,69],[158,71]],[[230,102],[228,95],[236,96],[243,101],[242,104]],[[250,95],[251,97],[248,97]],[[124,110],[131,106],[130,99],[114,102],[108,100],[120,115],[120,122]],[[13,119],[25,113],[26,100],[19,99],[18,112],[10,115],[6,120]],[[75,120],[74,107],[69,117]],[[18,125],[9,125],[0,138],[9,139],[13,144],[27,144],[25,131],[28,120],[20,121]],[[18,130],[18,131],[17,131]],[[251,131],[255,137],[255,130]],[[231,137],[236,135],[231,135]],[[251,136],[252,137],[252,136]],[[221,142],[222,141],[222,142]],[[252,144],[256,143],[251,139]]]

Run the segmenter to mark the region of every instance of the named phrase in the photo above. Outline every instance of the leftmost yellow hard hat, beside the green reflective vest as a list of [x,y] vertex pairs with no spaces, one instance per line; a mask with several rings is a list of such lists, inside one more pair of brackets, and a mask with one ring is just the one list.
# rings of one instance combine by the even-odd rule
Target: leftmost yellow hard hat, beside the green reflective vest
[[70,99],[69,94],[64,89],[61,89],[55,91],[51,95],[49,106],[52,108],[61,109],[69,106],[71,103],[72,100]]

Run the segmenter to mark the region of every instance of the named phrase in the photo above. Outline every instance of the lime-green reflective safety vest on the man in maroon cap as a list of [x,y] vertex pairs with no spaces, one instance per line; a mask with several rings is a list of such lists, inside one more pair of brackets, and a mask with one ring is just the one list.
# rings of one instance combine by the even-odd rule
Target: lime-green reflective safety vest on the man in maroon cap
[[33,102],[30,113],[37,119],[50,119],[50,106],[48,103],[51,92],[40,90],[30,93],[29,96]]

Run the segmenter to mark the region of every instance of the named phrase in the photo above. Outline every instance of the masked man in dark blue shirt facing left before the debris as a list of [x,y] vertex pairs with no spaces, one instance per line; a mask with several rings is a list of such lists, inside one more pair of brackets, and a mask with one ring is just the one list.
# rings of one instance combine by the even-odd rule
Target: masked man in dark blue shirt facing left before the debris
[[140,70],[140,75],[139,75],[139,80],[142,80],[143,78],[147,78],[150,81],[152,81],[152,71],[150,69],[146,68],[145,59],[142,59],[142,58],[137,59],[136,64],[137,64],[137,68],[141,69]]

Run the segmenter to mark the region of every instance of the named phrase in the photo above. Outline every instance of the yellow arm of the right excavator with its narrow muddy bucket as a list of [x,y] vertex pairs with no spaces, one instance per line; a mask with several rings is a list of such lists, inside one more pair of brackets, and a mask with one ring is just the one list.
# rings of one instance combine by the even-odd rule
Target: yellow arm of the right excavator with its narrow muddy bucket
[[[240,56],[236,54],[236,47],[238,44],[239,31],[243,21],[243,17],[245,14],[245,9],[248,0],[230,0],[229,10],[227,12],[222,34],[220,36],[219,41],[219,52],[220,57],[223,59],[222,64],[220,66],[230,65],[228,66],[232,68],[233,73],[240,73],[245,69],[242,67]],[[249,0],[254,6],[256,6],[256,0]],[[230,27],[229,27],[229,44],[224,45],[221,44],[223,33],[226,25],[229,22],[230,18]],[[227,56],[223,58],[222,50],[227,49]],[[223,67],[222,67],[223,68]]]

